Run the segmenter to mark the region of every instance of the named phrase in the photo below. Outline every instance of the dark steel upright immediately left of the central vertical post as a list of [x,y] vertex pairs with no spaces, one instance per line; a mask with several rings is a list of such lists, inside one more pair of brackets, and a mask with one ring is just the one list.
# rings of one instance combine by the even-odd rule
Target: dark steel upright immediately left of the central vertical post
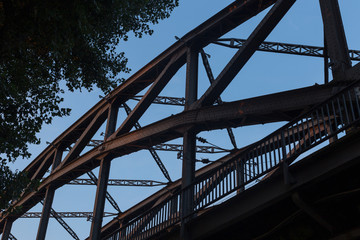
[[[119,107],[115,104],[112,104],[109,108],[106,131],[105,131],[105,139],[108,138],[111,134],[115,132],[116,121],[118,115]],[[110,158],[103,158],[100,163],[99,170],[99,178],[96,188],[96,197],[93,211],[93,221],[91,223],[90,230],[90,239],[98,240],[101,235],[101,224],[104,215],[104,207],[105,207],[105,198],[107,192],[107,183],[109,180],[110,173]]]

